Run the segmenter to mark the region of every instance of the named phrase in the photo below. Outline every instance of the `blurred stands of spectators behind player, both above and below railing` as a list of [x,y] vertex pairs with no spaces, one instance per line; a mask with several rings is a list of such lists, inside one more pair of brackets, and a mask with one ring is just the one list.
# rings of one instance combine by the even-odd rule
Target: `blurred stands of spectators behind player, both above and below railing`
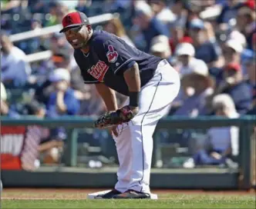
[[[74,10],[89,18],[116,14],[99,16],[93,28],[165,58],[179,71],[180,94],[167,118],[255,116],[254,0],[2,0],[2,116],[91,117],[105,111],[94,86],[83,84],[72,48],[59,34],[63,15]],[[119,104],[125,99],[118,94],[117,98]],[[65,127],[29,125],[23,130],[2,125],[2,159],[9,159],[8,154],[18,156],[4,165],[2,160],[2,169],[67,165],[68,132]],[[160,128],[156,138],[155,168],[239,166],[237,127]],[[77,167],[116,167],[118,159],[108,131],[78,128],[76,140]]]

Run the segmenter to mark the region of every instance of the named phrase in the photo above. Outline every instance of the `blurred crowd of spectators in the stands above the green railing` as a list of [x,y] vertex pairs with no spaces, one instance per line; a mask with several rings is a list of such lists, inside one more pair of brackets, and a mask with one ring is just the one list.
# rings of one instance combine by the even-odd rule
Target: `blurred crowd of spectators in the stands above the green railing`
[[[181,89],[169,115],[236,118],[256,113],[254,0],[2,0],[2,115],[31,114],[32,104],[40,107],[43,117],[105,111],[93,85],[83,84],[72,48],[62,34],[14,42],[10,38],[58,25],[73,10],[88,17],[119,13],[93,28],[170,61],[180,73]],[[39,61],[28,59],[40,51],[51,55]],[[117,98],[119,104],[125,99]],[[202,156],[194,161],[202,161]]]

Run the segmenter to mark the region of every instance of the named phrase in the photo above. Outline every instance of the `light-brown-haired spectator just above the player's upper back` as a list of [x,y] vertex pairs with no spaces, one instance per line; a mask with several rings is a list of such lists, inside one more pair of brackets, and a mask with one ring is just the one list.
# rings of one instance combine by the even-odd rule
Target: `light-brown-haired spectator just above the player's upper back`
[[135,46],[133,41],[126,35],[126,30],[123,27],[123,23],[120,21],[120,18],[113,18],[107,22],[104,26],[104,30],[122,38],[128,45]]

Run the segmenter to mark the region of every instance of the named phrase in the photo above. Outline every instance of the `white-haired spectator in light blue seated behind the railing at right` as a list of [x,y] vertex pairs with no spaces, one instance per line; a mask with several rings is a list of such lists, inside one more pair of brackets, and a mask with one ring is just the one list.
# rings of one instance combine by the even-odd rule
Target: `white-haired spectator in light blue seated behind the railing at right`
[[[229,95],[217,95],[213,100],[214,112],[217,116],[225,118],[238,118],[234,107],[234,101]],[[184,164],[185,168],[193,168],[194,165],[222,165],[237,168],[237,164],[231,158],[237,157],[239,151],[239,130],[237,127],[210,128],[207,131],[207,139],[204,148],[194,154],[191,161]]]

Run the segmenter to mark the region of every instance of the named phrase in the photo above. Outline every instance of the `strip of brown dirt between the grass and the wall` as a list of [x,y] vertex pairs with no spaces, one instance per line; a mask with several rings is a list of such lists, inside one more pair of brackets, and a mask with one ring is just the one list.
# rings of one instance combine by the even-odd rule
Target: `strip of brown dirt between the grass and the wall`
[[[2,199],[25,199],[25,200],[83,200],[87,194],[106,189],[64,189],[64,188],[4,188]],[[152,193],[159,194],[164,198],[165,194],[241,194],[255,195],[255,191],[199,191],[199,190],[153,190]]]

